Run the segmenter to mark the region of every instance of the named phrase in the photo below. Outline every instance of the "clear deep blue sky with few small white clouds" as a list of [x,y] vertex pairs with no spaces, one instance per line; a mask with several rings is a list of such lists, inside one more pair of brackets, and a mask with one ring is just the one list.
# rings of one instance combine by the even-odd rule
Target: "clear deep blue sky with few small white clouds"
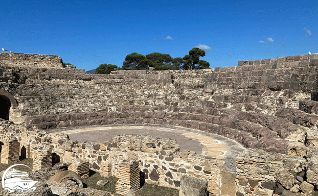
[[0,1],[0,48],[49,54],[90,70],[131,53],[184,57],[210,67],[318,53],[314,1]]

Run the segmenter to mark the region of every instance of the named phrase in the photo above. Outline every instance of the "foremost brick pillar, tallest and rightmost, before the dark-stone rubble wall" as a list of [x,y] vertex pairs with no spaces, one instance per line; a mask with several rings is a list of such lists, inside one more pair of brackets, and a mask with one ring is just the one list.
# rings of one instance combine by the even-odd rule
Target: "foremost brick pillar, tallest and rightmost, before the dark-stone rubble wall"
[[119,177],[116,182],[116,192],[126,195],[132,189],[137,191],[140,188],[139,162],[130,160],[119,165]]

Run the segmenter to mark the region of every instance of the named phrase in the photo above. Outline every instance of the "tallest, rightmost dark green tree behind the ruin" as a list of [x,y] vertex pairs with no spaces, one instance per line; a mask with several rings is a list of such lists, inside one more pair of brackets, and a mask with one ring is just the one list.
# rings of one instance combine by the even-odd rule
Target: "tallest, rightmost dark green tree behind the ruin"
[[183,68],[184,69],[196,69],[196,64],[199,62],[200,57],[206,56],[206,52],[201,50],[198,47],[192,48],[191,51],[189,51],[189,55],[186,55],[183,60],[185,61]]

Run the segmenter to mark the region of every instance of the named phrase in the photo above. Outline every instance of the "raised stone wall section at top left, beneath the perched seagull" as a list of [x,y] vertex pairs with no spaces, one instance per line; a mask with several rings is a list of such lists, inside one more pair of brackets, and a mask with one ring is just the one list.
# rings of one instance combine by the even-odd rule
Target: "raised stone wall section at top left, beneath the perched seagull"
[[12,67],[54,67],[63,68],[62,58],[56,55],[38,55],[24,53],[0,53],[0,65]]

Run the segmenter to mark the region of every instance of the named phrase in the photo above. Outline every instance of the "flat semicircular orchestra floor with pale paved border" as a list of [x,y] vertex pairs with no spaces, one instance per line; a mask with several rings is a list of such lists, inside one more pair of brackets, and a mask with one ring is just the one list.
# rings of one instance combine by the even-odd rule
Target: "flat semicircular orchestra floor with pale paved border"
[[75,129],[62,132],[68,134],[71,140],[77,140],[79,142],[107,141],[111,137],[127,133],[171,138],[177,140],[177,143],[180,145],[180,151],[194,151],[196,154],[209,156],[216,159],[222,159],[228,152],[222,141],[207,135],[202,135],[200,133],[194,133],[182,129],[151,126],[117,126]]

